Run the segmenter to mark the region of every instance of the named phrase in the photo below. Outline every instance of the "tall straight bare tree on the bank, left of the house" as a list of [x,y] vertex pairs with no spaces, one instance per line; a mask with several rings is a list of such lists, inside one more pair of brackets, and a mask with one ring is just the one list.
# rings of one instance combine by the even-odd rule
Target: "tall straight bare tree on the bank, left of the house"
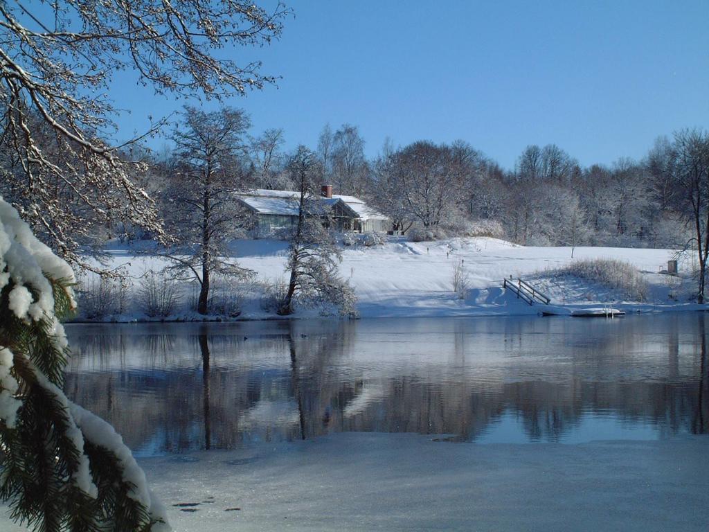
[[172,136],[179,165],[171,192],[177,208],[174,233],[182,246],[169,257],[177,270],[199,282],[197,311],[207,314],[211,275],[245,273],[223,257],[238,218],[234,160],[245,152],[242,138],[250,122],[232,108],[208,113],[187,106],[182,118]]

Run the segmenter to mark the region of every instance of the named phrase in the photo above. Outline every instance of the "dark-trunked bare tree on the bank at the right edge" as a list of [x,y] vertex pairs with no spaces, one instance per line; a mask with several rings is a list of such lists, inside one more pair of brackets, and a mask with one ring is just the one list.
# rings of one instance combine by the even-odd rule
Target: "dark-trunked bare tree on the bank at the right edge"
[[704,302],[709,256],[709,133],[686,129],[674,135],[673,177],[679,189],[678,211],[692,226],[697,247],[697,302]]

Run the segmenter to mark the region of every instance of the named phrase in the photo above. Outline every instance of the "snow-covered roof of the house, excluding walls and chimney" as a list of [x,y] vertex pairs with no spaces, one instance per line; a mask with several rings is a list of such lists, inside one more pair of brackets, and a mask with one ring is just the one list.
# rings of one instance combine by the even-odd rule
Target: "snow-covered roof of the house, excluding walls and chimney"
[[[291,190],[254,189],[248,192],[238,192],[239,199],[252,211],[259,214],[279,214],[281,216],[298,216],[298,199],[300,192]],[[332,208],[341,202],[345,209],[351,211],[352,218],[362,220],[387,220],[364,201],[354,196],[333,194],[332,198],[320,198],[321,205]]]

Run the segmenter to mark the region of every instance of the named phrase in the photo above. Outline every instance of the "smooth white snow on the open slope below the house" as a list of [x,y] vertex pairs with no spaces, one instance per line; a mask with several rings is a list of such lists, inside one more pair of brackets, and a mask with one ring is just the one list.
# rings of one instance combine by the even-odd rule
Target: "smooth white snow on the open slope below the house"
[[[286,243],[238,240],[231,250],[240,265],[257,272],[257,280],[286,279]],[[155,257],[135,256],[126,249],[113,249],[109,253],[111,267],[123,265],[136,277],[147,270],[160,270],[167,264]],[[554,305],[613,304],[626,311],[696,309],[698,307],[690,301],[694,281],[687,273],[691,268],[688,261],[680,263],[683,276],[658,273],[674,254],[673,250],[634,248],[574,250],[574,260],[618,259],[637,267],[649,284],[645,301],[624,301],[622,296],[602,286],[579,279],[562,282],[545,275],[569,265],[571,248],[523,247],[486,237],[420,243],[390,240],[384,245],[343,248],[340,273],[350,279],[359,298],[362,317],[537,314],[538,306],[529,306],[503,290],[503,278],[510,276],[540,283]],[[454,294],[452,284],[457,260],[462,260],[469,279],[467,297],[462,300]],[[133,311],[123,319],[135,316]],[[247,297],[240,318],[264,317],[268,314],[261,308],[259,298]]]

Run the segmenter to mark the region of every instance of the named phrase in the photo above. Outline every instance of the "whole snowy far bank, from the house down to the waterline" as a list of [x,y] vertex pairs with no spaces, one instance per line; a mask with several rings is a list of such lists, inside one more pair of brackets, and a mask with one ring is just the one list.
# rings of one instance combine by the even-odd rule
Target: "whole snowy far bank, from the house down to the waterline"
[[[107,287],[104,294],[96,279],[93,284],[89,282],[90,278],[83,279],[82,282],[88,282],[83,284],[86,299],[79,299],[80,314],[72,323],[341,319],[335,309],[330,308],[303,307],[291,316],[275,314],[269,291],[284,282],[286,252],[285,243],[279,240],[235,241],[229,260],[255,272],[255,276],[245,282],[222,280],[213,287],[216,290],[214,297],[227,304],[228,311],[217,307],[223,314],[197,314],[191,310],[196,285],[176,281],[172,289],[181,294],[177,307],[167,317],[150,318],[144,311],[140,279],[145,272],[160,272],[168,263],[160,257],[136,255],[130,249],[108,250],[111,258],[106,266],[113,270],[122,269],[128,280],[120,288]],[[579,247],[575,250],[576,258],[571,259],[570,248],[524,247],[496,238],[472,237],[420,243],[392,240],[371,248],[343,248],[341,252],[340,275],[357,294],[359,318],[469,318],[540,313],[544,304],[529,306],[517,299],[509,287],[503,287],[503,279],[509,277],[532,284],[551,299],[550,306],[555,309],[612,306],[627,314],[709,309],[709,306],[691,302],[696,301],[693,298],[696,282],[689,273],[691,261],[681,263],[680,276],[669,277],[658,272],[658,267],[666,265],[666,261],[676,255],[675,250]],[[569,275],[569,265],[579,260],[625,263],[629,267],[627,270],[635,272],[633,282],[644,285],[644,293],[637,295],[623,288]],[[464,267],[462,292],[454,288],[456,267]],[[558,275],[557,272],[567,273]],[[118,301],[121,301],[120,306]]]

